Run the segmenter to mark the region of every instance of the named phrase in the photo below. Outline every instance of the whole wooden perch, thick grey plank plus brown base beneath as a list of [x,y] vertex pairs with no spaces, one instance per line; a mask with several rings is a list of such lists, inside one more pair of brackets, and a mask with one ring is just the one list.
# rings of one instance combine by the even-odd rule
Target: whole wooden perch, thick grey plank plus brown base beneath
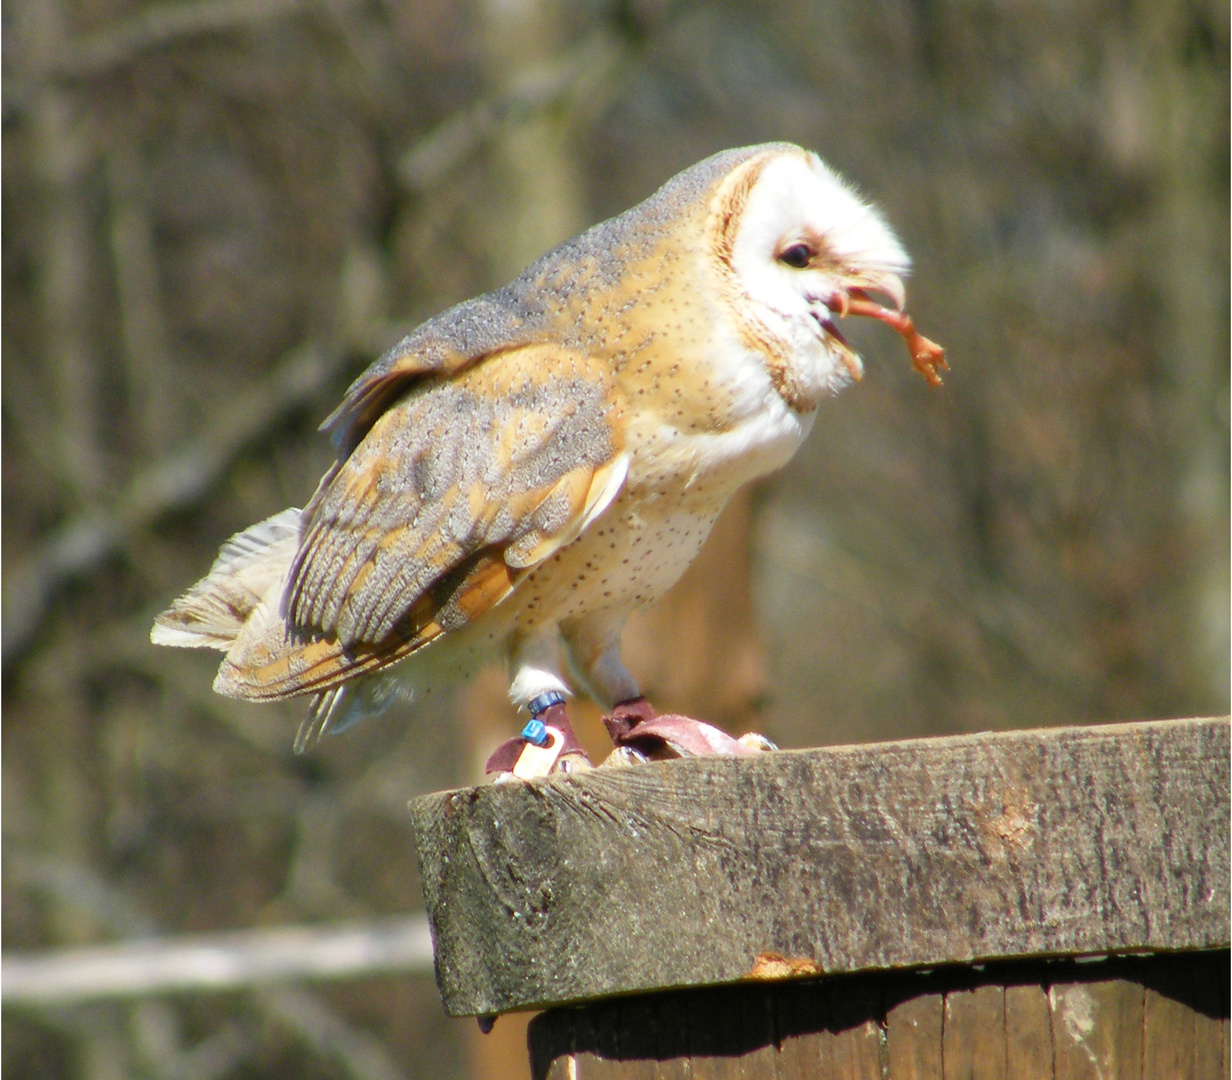
[[455,1016],[536,1078],[1228,1073],[1228,722],[692,759],[411,804]]

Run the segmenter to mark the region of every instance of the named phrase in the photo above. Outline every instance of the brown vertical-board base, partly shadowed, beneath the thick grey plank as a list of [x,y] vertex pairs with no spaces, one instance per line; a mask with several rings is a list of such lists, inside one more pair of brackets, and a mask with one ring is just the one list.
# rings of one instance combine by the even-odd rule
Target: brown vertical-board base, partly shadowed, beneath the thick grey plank
[[1228,975],[1221,951],[643,994],[540,1014],[531,1071],[535,1080],[1226,1080]]

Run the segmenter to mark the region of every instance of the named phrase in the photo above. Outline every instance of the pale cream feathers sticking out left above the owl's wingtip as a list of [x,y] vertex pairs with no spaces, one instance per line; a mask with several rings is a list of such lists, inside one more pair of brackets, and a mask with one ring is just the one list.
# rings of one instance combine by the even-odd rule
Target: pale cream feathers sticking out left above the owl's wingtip
[[150,640],[230,651],[254,616],[277,615],[298,546],[294,507],[237,533],[223,544],[209,573],[154,619]]

